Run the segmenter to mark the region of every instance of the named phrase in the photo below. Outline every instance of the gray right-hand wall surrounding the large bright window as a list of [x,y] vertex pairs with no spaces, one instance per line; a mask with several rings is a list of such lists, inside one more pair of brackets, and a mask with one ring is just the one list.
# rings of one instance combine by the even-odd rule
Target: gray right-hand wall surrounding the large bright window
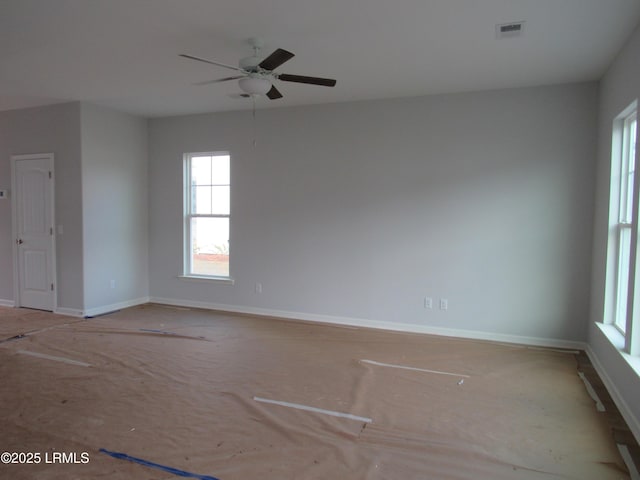
[[[594,229],[593,283],[589,346],[608,376],[611,387],[635,417],[640,432],[640,377],[602,334],[596,322],[604,319],[606,283],[611,131],[614,118],[640,98],[640,27],[638,27],[600,84],[598,112],[597,195]],[[627,419],[629,420],[629,419]]]

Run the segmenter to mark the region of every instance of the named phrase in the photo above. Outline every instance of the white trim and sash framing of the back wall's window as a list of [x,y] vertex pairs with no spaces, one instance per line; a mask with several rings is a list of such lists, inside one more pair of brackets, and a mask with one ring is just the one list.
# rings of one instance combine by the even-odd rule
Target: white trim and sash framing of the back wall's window
[[219,275],[198,275],[191,272],[191,218],[194,217],[213,217],[213,218],[228,218],[229,219],[229,237],[231,237],[231,212],[229,215],[196,215],[191,213],[191,189],[187,188],[187,185],[191,185],[191,158],[193,157],[206,157],[206,156],[231,156],[231,153],[226,150],[214,151],[214,152],[189,152],[183,155],[182,161],[182,274],[178,275],[178,279],[189,282],[197,283],[221,283],[227,285],[233,285],[235,280],[231,276],[231,241],[229,241],[229,276]]

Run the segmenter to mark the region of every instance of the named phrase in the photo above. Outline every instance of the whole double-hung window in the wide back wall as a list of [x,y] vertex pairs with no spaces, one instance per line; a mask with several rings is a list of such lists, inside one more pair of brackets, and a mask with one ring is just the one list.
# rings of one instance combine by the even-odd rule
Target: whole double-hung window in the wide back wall
[[185,155],[185,276],[229,278],[230,167],[227,152]]

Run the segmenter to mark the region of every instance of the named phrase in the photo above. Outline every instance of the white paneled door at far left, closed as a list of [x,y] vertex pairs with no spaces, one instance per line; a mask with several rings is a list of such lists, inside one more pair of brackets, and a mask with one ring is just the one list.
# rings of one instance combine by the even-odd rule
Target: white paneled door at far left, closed
[[53,154],[11,157],[16,306],[55,309]]

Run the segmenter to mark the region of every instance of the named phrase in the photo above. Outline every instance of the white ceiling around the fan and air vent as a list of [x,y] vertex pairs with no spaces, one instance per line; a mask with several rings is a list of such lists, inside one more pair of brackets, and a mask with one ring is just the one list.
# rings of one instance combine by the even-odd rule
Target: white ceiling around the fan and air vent
[[[521,37],[495,25],[526,22]],[[640,0],[0,0],[0,110],[84,100],[143,116],[241,110],[235,81],[193,83],[281,47],[257,108],[595,80],[640,20]]]

